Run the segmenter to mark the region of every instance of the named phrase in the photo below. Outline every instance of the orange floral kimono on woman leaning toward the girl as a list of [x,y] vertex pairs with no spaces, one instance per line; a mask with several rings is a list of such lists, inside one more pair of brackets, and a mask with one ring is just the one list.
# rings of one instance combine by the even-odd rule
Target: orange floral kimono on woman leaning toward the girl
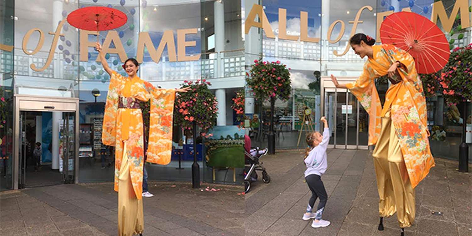
[[[421,79],[413,57],[406,51],[388,44],[372,46],[372,49],[373,58],[365,62],[362,75],[346,86],[369,113],[369,145],[377,143],[381,117],[391,109],[395,133],[414,188],[435,165],[428,140],[426,99]],[[394,78],[400,82],[388,88],[382,109],[374,79],[387,75],[388,68],[396,61],[402,64],[397,69],[400,78]]]

